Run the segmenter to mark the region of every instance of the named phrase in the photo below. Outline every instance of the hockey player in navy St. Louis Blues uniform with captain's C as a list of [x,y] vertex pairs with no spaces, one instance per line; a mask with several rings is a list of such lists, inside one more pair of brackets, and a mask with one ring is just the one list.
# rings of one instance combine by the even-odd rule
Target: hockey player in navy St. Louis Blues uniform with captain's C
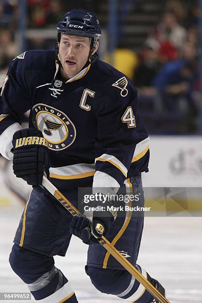
[[[137,113],[137,91],[112,66],[96,60],[101,30],[92,12],[71,10],[57,26],[56,53],[31,50],[17,56],[0,93],[0,152],[13,159],[17,177],[33,185],[16,231],[9,262],[35,300],[77,303],[54,255],[65,255],[72,234],[89,244],[87,275],[101,292],[125,302],[150,303],[154,297],[109,253],[95,244],[103,235],[164,294],[158,281],[136,264],[143,216],[107,216],[94,211],[76,216],[39,186],[45,173],[78,206],[78,187],[105,194],[140,194],[148,171],[149,137]],[[30,109],[29,128],[21,116]],[[90,223],[91,222],[91,223]],[[75,252],[76,253],[76,252]]]

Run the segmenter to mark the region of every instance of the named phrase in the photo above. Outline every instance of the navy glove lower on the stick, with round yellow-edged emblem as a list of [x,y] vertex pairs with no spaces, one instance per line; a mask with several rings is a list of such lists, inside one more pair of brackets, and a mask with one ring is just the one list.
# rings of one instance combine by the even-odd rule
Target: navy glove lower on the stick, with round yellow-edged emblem
[[[90,206],[90,205],[89,205]],[[109,201],[105,202],[107,206],[112,206]],[[91,219],[85,215],[78,214],[73,217],[70,223],[70,232],[79,237],[85,244],[98,244],[96,239],[106,236],[117,218],[117,211],[93,211]]]

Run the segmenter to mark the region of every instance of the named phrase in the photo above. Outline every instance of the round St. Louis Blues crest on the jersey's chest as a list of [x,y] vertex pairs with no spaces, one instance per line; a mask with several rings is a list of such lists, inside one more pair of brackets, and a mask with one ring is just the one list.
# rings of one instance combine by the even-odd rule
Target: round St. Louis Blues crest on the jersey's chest
[[75,126],[62,111],[42,103],[35,105],[32,110],[33,123],[49,142],[51,150],[64,150],[75,141]]

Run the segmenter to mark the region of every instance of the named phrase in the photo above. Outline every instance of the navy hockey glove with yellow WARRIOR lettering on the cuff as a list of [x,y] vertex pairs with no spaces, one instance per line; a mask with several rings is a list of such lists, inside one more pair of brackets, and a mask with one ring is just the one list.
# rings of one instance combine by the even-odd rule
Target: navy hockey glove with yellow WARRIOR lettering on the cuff
[[14,133],[13,172],[30,185],[41,185],[44,172],[49,178],[47,141],[40,130],[25,128]]

